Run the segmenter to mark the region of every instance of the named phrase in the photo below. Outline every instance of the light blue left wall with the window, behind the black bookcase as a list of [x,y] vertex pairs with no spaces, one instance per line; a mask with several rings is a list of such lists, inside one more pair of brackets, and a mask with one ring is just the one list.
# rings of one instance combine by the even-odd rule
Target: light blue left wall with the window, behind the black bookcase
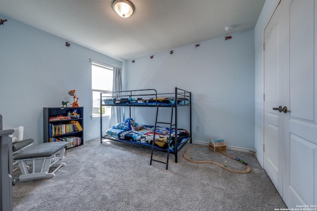
[[24,137],[43,142],[43,107],[72,101],[75,89],[84,107],[84,138],[100,136],[99,118],[91,119],[89,58],[122,67],[122,62],[71,43],[9,17],[0,26],[0,114],[3,122],[24,126]]

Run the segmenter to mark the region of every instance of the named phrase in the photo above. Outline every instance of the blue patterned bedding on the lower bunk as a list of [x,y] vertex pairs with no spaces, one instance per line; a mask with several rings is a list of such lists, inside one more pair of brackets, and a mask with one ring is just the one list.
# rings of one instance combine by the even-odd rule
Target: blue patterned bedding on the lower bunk
[[[156,139],[159,140],[165,140],[167,141],[168,139],[168,132],[169,128],[168,127],[157,127],[156,130]],[[141,130],[120,130],[120,129],[107,129],[106,130],[106,135],[119,139],[119,140],[125,140],[129,142],[135,142],[137,144],[142,144],[142,145],[147,145],[147,146],[152,146],[152,141],[153,141],[153,136],[154,136],[154,126],[144,126],[144,129]],[[178,142],[178,147],[182,145],[186,140],[189,139],[190,134],[188,131],[185,129],[177,129],[177,142]],[[175,151],[175,129],[172,129],[171,133],[171,141],[169,145],[170,151]],[[161,149],[167,149],[167,142],[155,142],[155,147],[156,148],[161,148]]]

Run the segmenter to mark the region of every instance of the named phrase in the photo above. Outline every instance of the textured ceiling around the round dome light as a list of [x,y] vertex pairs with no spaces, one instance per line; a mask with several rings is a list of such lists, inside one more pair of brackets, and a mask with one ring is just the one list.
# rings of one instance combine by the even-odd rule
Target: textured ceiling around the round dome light
[[[265,0],[131,1],[129,18],[113,11],[112,0],[0,0],[0,14],[129,60],[253,29]],[[227,25],[234,28],[226,32]]]

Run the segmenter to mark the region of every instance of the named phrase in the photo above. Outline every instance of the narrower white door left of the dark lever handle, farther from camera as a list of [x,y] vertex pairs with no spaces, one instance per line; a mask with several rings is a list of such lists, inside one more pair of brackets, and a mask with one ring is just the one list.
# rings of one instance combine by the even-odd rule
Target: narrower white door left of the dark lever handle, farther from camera
[[272,108],[280,105],[280,30],[282,8],[277,6],[264,29],[264,169],[282,196],[282,130],[279,112]]

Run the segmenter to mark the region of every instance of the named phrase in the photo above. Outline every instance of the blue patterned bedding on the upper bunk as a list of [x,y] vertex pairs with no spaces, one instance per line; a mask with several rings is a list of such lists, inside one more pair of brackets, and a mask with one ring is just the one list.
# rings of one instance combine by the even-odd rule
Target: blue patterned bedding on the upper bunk
[[[144,98],[144,97],[135,97],[135,98],[106,98],[104,99],[104,103],[106,105],[155,105],[158,103],[159,105],[172,105],[175,104],[175,97],[158,97],[158,98]],[[178,105],[189,104],[188,99],[178,98]]]

